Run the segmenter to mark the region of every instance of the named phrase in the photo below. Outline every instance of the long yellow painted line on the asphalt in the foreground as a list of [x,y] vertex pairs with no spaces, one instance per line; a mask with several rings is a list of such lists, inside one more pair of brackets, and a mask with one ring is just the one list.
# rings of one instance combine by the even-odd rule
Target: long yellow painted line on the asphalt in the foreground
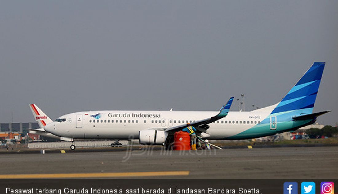
[[189,171],[7,174],[0,175],[0,179],[95,178],[95,177],[178,176],[178,175],[189,175]]

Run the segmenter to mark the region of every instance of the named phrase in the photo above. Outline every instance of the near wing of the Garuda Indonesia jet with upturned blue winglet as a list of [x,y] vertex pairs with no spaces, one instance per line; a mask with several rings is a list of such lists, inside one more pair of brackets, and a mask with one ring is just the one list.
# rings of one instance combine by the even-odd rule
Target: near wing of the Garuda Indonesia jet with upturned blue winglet
[[[212,122],[215,122],[219,119],[222,119],[224,117],[226,117],[228,115],[229,109],[231,107],[231,104],[234,100],[234,97],[231,97],[228,102],[222,106],[222,108],[219,110],[219,113],[216,116],[210,117],[208,119],[203,119],[203,120],[199,120],[199,121],[195,121],[190,123],[191,126],[194,126],[196,128],[197,131],[199,131],[200,133],[204,132],[207,133],[207,129],[209,129],[209,125]],[[180,131],[184,128],[186,128],[188,125],[187,124],[183,124],[183,125],[177,125],[174,127],[169,127],[167,129],[165,129],[166,132],[176,132],[176,131]]]

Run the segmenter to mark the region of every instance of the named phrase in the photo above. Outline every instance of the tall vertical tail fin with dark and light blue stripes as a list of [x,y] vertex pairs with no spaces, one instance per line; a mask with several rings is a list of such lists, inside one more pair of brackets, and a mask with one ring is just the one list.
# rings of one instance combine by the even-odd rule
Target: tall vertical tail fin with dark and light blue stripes
[[300,109],[304,114],[311,114],[316,101],[324,66],[324,62],[314,62],[271,114]]

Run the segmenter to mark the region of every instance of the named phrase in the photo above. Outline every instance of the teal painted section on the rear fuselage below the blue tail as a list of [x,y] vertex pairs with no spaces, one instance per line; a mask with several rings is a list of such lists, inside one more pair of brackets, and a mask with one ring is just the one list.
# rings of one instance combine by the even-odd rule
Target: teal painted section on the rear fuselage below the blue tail
[[234,136],[226,137],[225,140],[252,139],[252,138],[274,135],[277,133],[290,131],[294,128],[307,125],[311,122],[312,120],[277,122],[277,128],[275,130],[270,129],[270,123],[266,123],[266,124],[260,123]]

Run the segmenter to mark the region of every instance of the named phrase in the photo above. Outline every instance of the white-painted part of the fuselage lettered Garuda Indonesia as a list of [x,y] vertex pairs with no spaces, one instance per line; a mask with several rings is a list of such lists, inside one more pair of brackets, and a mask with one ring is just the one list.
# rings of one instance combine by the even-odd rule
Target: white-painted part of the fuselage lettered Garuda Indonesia
[[[269,116],[274,107],[229,112],[225,118],[209,124],[208,139],[224,139],[254,127]],[[97,114],[100,118],[94,118]],[[59,121],[45,126],[45,130],[67,138],[138,139],[140,130],[169,128],[217,114],[216,111],[83,111],[61,116]]]

